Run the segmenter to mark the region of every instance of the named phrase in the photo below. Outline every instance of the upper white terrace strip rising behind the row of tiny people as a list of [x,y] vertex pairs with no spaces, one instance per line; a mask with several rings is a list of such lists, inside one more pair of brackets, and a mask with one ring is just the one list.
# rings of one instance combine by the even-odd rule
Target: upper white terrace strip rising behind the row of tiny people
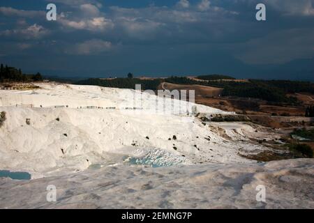
[[[156,95],[140,93],[131,89],[111,89],[100,86],[82,86],[72,84],[36,84],[39,89],[16,91],[0,91],[0,107],[7,106],[32,106],[32,107],[61,107],[84,108],[84,107],[140,107],[144,110],[156,110]],[[135,100],[135,97],[137,98]],[[170,103],[169,98],[165,103]],[[192,102],[174,100],[173,109],[177,113],[191,112],[193,105],[197,106],[198,112],[207,114],[230,114],[220,109],[214,109],[204,105],[196,105]],[[161,109],[160,109],[161,110]],[[164,111],[160,111],[164,112]],[[169,111],[168,111],[169,112]]]

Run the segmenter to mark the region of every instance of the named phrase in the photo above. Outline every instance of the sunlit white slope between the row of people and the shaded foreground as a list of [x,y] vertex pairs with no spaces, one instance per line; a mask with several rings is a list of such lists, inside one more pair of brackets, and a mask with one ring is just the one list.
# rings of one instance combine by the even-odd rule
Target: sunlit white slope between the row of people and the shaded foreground
[[1,111],[6,121],[0,128],[0,169],[27,171],[32,178],[94,165],[254,162],[239,155],[240,149],[244,154],[266,149],[248,141],[255,129],[241,123],[234,123],[238,131],[223,133],[230,134],[225,138],[190,116],[71,108]]

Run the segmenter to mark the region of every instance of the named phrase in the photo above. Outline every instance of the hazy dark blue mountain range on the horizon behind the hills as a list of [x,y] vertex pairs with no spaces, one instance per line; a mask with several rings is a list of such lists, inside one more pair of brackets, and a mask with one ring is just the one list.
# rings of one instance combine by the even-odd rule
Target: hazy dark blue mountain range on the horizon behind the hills
[[[204,68],[204,65],[205,68]],[[152,68],[154,67],[154,69]],[[216,55],[203,56],[200,58],[193,58],[187,55],[179,61],[156,61],[154,66],[150,63],[143,63],[139,68],[138,66],[129,66],[124,68],[128,72],[133,72],[135,77],[170,77],[170,76],[198,76],[198,75],[230,75],[237,79],[288,79],[299,81],[314,82],[314,58],[312,59],[296,59],[287,63],[275,65],[249,65],[231,56]],[[62,79],[68,81],[77,81],[81,79],[88,79],[91,77],[126,77],[128,72],[118,70],[117,72],[96,72],[97,75],[80,75],[75,71],[69,75],[51,75],[49,79]],[[49,70],[43,71],[49,73]],[[60,73],[63,73],[60,71]],[[113,73],[117,75],[112,75]],[[124,75],[125,73],[125,75]]]

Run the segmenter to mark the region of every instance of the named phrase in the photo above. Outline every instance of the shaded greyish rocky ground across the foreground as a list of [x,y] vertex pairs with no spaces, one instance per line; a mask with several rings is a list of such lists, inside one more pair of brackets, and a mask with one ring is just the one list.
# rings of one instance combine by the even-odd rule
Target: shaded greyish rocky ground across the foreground
[[[104,167],[31,181],[0,178],[0,208],[314,208],[314,160]],[[47,185],[57,202],[47,202]],[[257,201],[257,185],[265,201]]]

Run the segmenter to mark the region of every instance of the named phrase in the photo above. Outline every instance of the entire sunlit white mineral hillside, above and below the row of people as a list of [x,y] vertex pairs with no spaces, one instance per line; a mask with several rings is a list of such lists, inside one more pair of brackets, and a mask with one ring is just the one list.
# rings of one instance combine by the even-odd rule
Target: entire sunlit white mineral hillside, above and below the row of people
[[[234,123],[230,129],[204,125],[186,112],[156,113],[151,110],[156,96],[148,93],[142,95],[140,111],[80,109],[132,107],[125,98],[132,98],[134,91],[67,84],[39,86],[32,91],[0,91],[0,112],[6,112],[0,128],[0,169],[28,171],[32,178],[39,178],[94,165],[250,163],[254,161],[241,154],[267,149],[249,140],[264,136],[246,124]],[[195,105],[186,103],[189,109]],[[197,109],[223,113],[202,105]]]

